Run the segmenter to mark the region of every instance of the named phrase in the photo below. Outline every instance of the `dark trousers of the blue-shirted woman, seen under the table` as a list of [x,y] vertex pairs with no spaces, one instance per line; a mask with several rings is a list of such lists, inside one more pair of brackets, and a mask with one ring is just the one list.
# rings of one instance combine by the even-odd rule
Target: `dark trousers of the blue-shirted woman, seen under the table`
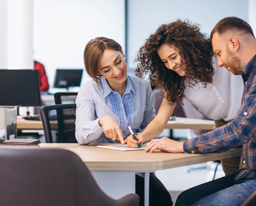
[[[135,191],[140,196],[140,206],[144,205],[144,178],[136,175]],[[170,193],[154,173],[149,173],[149,206],[172,206]]]

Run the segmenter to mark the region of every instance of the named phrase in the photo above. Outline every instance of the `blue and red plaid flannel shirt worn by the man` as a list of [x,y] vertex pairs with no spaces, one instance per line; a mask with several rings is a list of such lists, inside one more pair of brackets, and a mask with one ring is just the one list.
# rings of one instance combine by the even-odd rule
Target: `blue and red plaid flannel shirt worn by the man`
[[242,105],[227,125],[185,141],[189,153],[222,152],[243,145],[243,164],[235,179],[256,179],[256,55],[242,70]]

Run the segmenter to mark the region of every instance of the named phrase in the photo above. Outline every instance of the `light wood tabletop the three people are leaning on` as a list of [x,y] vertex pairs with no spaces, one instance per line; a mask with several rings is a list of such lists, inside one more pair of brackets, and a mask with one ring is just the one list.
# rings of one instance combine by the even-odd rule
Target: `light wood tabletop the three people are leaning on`
[[237,157],[242,148],[230,149],[221,153],[191,154],[155,151],[118,151],[79,144],[42,143],[44,148],[63,148],[76,153],[89,170],[115,171],[155,171],[173,167],[198,164],[208,161]]

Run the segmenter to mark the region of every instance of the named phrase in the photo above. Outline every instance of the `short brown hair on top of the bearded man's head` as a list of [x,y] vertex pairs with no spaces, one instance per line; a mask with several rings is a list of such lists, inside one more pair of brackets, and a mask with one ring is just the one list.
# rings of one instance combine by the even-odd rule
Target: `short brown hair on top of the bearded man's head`
[[235,16],[231,16],[231,17],[226,17],[226,18],[220,20],[215,25],[212,32],[210,32],[210,40],[213,39],[213,35],[215,32],[217,32],[217,33],[219,33],[219,35],[221,35],[222,33],[226,32],[228,30],[244,31],[245,33],[250,33],[254,37],[252,28],[246,21],[239,19]]

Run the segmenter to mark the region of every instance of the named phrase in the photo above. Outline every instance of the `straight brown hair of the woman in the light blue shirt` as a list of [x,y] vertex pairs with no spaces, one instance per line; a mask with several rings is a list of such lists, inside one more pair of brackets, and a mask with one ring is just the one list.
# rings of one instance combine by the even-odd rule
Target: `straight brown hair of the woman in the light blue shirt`
[[98,64],[99,60],[106,49],[113,49],[123,53],[122,47],[113,39],[106,37],[97,37],[89,41],[84,49],[85,70],[97,84],[99,84]]

